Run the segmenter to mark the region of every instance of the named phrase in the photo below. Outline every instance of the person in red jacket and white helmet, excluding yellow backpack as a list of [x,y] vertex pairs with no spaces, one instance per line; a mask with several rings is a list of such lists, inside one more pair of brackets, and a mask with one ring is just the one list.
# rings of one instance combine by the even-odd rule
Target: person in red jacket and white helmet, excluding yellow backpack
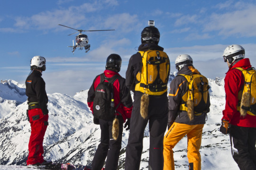
[[244,75],[236,69],[250,69],[251,63],[245,57],[245,49],[240,45],[229,45],[223,54],[229,71],[225,77],[226,105],[223,110],[220,132],[229,134],[231,152],[240,170],[256,170],[256,115],[241,116],[238,92],[243,90]]

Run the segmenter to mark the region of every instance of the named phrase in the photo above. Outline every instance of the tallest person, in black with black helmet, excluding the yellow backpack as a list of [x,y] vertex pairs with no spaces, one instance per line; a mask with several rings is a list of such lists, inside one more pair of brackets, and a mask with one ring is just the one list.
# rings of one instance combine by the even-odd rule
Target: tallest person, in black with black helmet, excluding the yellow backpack
[[[163,51],[164,48],[158,45],[159,38],[160,33],[156,27],[145,27],[141,33],[142,44],[138,47],[138,51]],[[142,67],[141,60],[140,53],[132,55],[126,72],[126,86],[134,92],[134,102],[126,149],[125,170],[139,170],[144,130],[148,122],[150,133],[148,169],[162,170],[164,164],[163,139],[168,118],[167,92],[165,91],[162,95],[148,95],[148,115],[144,119],[140,114],[141,97],[144,93],[135,90],[136,75]]]

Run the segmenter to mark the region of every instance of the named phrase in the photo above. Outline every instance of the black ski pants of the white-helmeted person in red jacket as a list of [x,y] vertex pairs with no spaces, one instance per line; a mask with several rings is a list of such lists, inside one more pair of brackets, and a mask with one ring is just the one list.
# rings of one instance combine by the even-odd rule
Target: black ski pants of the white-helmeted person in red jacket
[[231,125],[231,152],[240,170],[256,170],[256,127]]

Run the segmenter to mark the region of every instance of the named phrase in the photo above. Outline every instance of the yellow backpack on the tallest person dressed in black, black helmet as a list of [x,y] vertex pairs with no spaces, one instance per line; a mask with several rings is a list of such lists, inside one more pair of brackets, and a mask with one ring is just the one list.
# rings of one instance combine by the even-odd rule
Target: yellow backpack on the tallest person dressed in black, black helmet
[[139,51],[142,67],[136,75],[135,90],[149,95],[162,95],[167,91],[170,61],[163,51]]

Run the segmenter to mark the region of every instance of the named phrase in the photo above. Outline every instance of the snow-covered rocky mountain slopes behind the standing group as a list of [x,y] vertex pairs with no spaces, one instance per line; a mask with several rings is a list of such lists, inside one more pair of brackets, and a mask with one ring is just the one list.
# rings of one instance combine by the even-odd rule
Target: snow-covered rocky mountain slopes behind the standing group
[[[174,77],[172,74],[171,76]],[[238,170],[233,161],[229,136],[219,132],[225,105],[224,81],[209,79],[211,107],[203,128],[201,143],[202,170]],[[100,143],[101,130],[94,125],[87,106],[87,92],[83,90],[68,96],[48,94],[49,126],[46,130],[45,158],[55,162],[90,165]],[[27,121],[25,86],[15,81],[0,83],[0,170],[15,170],[26,165],[30,124]],[[129,132],[123,132],[119,170],[124,170],[125,150]],[[141,170],[148,166],[149,132],[145,130]],[[174,148],[175,168],[187,170],[187,139],[184,137]],[[26,169],[25,167],[23,167]]]

